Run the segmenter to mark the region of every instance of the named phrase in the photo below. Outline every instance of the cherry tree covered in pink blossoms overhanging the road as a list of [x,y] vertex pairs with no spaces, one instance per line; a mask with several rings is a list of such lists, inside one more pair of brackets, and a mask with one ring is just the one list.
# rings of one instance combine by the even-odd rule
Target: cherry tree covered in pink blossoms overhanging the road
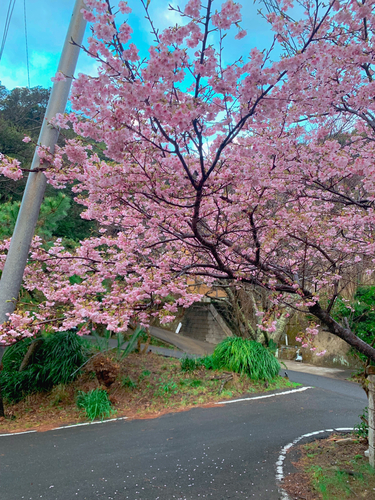
[[[375,360],[331,315],[373,267],[374,2],[302,0],[293,19],[292,2],[280,1],[266,15],[270,49],[234,61],[224,41],[246,36],[239,4],[189,0],[170,7],[180,23],[159,32],[141,2],[154,37],[147,56],[132,43],[127,2],[86,0],[84,50],[99,73],[78,76],[74,111],[54,121],[80,138],[39,155],[53,186],[73,184],[101,236],[74,252],[35,239],[24,287],[45,301],[17,309],[2,342],[47,323],[82,333],[167,323],[200,299],[197,284],[225,280],[313,315],[306,344],[322,325]],[[1,168],[21,175],[11,159]],[[276,326],[267,318],[263,328]]]

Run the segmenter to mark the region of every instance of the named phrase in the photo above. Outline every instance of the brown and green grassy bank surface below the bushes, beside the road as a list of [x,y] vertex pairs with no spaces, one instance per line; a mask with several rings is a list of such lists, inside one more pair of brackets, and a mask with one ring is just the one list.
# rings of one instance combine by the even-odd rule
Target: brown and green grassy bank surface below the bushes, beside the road
[[[101,356],[101,355],[100,355]],[[276,377],[273,381],[254,382],[246,375],[230,371],[207,370],[199,366],[193,371],[181,370],[179,360],[148,353],[132,353],[118,360],[105,355],[96,365],[108,363],[115,381],[105,387],[115,410],[114,417],[153,418],[163,413],[184,411],[210,405],[217,401],[277,389],[293,388],[297,384]],[[108,367],[107,367],[108,368]],[[103,387],[98,380],[94,361],[72,383],[55,386],[49,392],[27,396],[6,406],[6,418],[0,422],[0,432],[48,429],[58,425],[83,422],[85,414],[76,405],[79,391],[89,392]]]

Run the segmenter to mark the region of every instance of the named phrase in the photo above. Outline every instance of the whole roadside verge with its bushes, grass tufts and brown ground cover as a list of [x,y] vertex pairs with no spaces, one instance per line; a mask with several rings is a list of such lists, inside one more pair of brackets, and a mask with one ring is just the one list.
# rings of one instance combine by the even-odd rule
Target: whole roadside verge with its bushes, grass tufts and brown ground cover
[[[144,345],[139,349],[138,339],[143,339],[143,335],[142,331],[136,332],[129,341],[130,348],[123,350],[120,342],[108,349],[108,342],[102,337],[99,343],[89,345],[73,332],[55,333],[39,339],[41,345],[23,371],[19,371],[20,366],[32,342],[24,340],[9,348],[1,372],[6,402],[1,432],[109,417],[155,417],[297,385],[279,377],[275,369],[264,371],[262,376],[259,370],[249,370],[252,361],[249,356],[246,364],[244,353],[251,350],[246,347],[259,349],[252,341],[226,340],[218,345],[213,356],[179,360],[142,354]],[[61,356],[52,357],[49,353],[57,340],[66,348]],[[228,358],[221,354],[225,346],[233,348],[236,344],[241,348],[234,351],[234,359],[237,355],[243,362],[229,366]],[[271,356],[279,366],[274,356],[263,349],[263,360],[258,359],[257,363],[264,369]],[[69,356],[64,354],[68,351]]]

